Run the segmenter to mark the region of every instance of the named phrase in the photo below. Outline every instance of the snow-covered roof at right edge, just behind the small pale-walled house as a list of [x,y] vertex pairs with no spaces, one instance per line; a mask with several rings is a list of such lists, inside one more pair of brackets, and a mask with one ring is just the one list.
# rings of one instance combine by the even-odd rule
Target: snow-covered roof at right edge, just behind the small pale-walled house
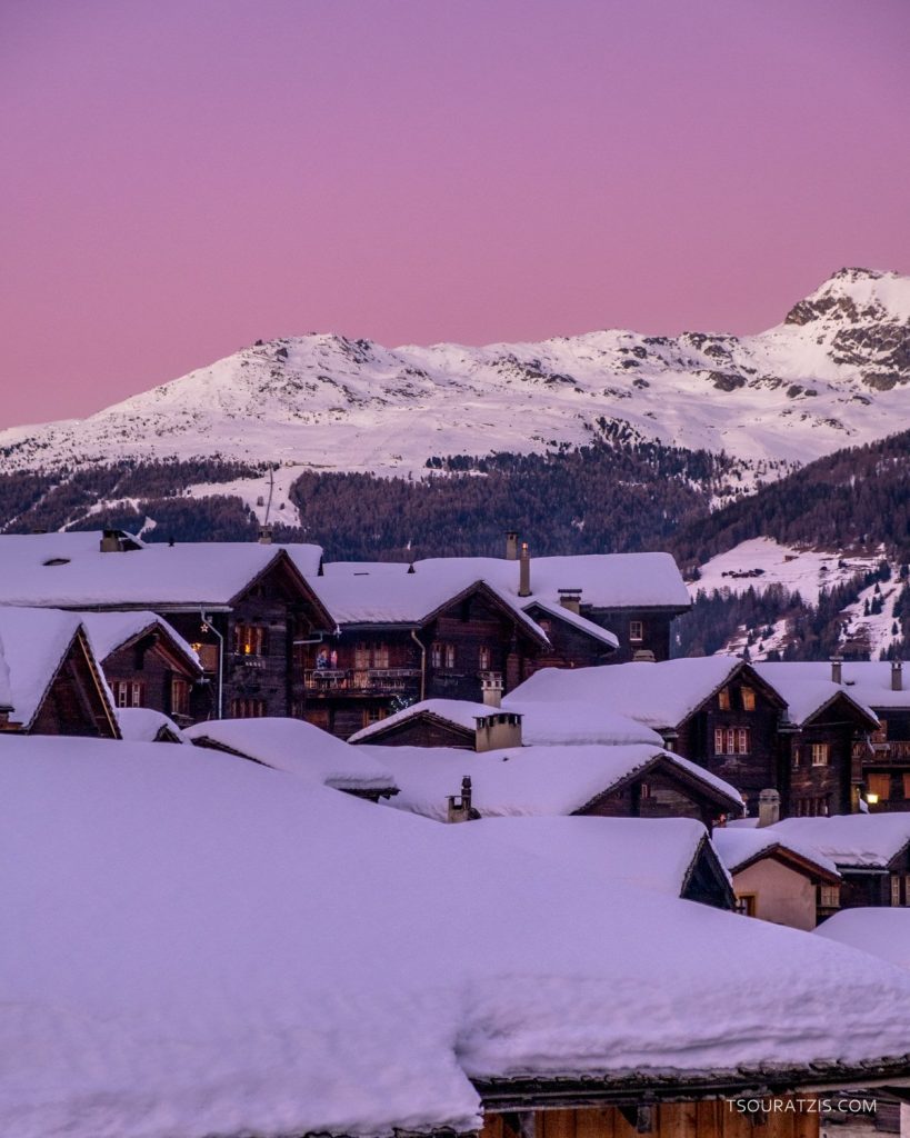
[[838,814],[829,818],[785,818],[774,826],[829,857],[839,868],[884,868],[910,842],[910,814]]

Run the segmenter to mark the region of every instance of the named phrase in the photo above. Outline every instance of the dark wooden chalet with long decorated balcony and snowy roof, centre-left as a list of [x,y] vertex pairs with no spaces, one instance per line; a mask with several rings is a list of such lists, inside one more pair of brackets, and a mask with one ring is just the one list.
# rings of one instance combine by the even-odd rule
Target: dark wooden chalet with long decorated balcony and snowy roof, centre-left
[[417,700],[497,703],[548,648],[543,629],[485,580],[453,588],[445,574],[380,566],[326,572],[316,587],[340,636],[301,648],[304,714],[341,739]]

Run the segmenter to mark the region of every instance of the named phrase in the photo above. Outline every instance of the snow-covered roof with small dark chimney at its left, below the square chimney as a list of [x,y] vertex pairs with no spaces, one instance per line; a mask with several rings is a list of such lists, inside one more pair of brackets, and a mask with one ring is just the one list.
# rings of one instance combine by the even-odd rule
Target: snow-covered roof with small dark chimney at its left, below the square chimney
[[581,810],[660,758],[725,799],[728,809],[742,806],[739,792],[723,780],[653,745],[513,747],[478,753],[454,747],[361,743],[357,750],[366,751],[395,775],[400,793],[389,805],[437,820],[446,819],[448,797],[461,793],[464,775],[471,777],[472,805],[481,817],[559,816]]

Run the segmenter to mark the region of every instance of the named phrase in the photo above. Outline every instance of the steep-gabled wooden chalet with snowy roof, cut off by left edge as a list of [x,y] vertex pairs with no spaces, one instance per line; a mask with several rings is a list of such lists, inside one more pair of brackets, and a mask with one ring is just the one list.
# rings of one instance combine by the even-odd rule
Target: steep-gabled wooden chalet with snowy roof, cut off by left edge
[[0,608],[0,732],[121,737],[108,687],[75,615]]

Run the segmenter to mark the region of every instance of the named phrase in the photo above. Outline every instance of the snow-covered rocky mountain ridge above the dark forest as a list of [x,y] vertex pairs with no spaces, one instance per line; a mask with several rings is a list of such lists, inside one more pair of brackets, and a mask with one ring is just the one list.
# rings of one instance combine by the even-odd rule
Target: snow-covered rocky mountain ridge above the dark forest
[[[0,471],[220,454],[420,471],[432,455],[626,434],[808,462],[910,426],[910,278],[835,273],[756,336],[599,331],[482,348],[257,343],[84,420],[0,431]],[[624,428],[628,424],[631,430]]]

